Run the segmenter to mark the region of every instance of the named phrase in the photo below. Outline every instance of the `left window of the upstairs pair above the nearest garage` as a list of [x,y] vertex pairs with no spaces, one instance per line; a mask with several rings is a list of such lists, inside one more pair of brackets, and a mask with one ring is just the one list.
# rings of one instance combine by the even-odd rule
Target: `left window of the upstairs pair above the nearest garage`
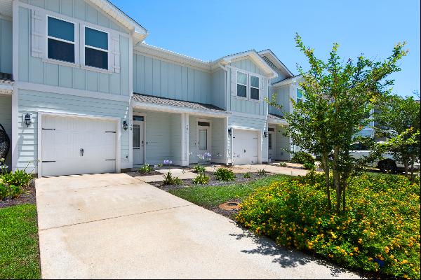
[[48,16],[47,29],[47,57],[74,63],[74,23]]

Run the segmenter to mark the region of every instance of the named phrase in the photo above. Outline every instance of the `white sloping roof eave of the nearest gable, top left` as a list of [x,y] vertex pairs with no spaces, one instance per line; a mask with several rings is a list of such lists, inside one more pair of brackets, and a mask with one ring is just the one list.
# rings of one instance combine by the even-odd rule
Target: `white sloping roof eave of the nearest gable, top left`
[[112,18],[114,18],[114,20],[116,20],[121,25],[123,25],[123,27],[126,27],[127,29],[131,30],[133,33],[133,38],[135,39],[135,41],[133,42],[134,44],[142,42],[149,35],[145,27],[142,27],[142,25],[140,25],[138,22],[133,20],[133,18],[129,17],[122,10],[117,8],[109,0],[87,0],[87,1],[93,3],[93,5],[103,10],[104,13],[107,13],[108,15],[110,15]]

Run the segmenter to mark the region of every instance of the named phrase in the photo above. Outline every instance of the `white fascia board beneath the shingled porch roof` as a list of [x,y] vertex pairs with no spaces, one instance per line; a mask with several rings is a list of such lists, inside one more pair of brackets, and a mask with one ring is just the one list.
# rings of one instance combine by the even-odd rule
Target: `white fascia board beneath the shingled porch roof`
[[223,111],[223,113],[213,111],[203,111],[199,109],[181,108],[176,106],[167,106],[161,104],[151,104],[144,102],[133,101],[133,109],[144,109],[149,111],[161,111],[168,113],[189,113],[191,115],[209,116],[214,118],[226,118],[229,116],[229,112]]

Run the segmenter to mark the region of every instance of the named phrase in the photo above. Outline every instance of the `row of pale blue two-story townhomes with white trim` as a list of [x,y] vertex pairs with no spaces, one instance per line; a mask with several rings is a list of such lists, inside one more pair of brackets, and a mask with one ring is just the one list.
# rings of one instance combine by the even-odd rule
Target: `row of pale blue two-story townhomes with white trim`
[[298,82],[271,50],[204,62],[144,43],[106,0],[0,0],[6,164],[39,176],[121,172],[171,160],[290,160]]

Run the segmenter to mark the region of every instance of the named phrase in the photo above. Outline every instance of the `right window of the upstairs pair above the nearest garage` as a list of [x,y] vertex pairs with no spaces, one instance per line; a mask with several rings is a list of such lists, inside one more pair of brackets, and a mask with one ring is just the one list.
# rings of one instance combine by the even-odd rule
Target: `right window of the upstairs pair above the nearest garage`
[[108,70],[108,33],[85,27],[85,65]]

